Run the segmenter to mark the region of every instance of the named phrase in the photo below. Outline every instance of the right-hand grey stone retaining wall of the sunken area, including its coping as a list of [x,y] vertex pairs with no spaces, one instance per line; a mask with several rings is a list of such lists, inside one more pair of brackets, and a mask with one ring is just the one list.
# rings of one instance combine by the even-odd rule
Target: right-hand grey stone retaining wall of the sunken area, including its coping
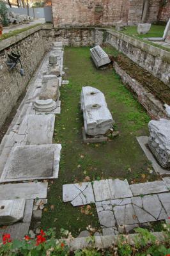
[[112,30],[107,30],[105,42],[170,87],[170,52]]

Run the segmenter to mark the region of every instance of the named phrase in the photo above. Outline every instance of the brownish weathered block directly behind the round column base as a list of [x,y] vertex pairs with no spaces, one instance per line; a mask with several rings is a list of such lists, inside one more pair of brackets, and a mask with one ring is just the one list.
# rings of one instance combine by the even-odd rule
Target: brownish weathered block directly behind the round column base
[[[52,76],[52,75],[50,75]],[[49,79],[47,83],[43,84],[40,96],[40,100],[58,100],[59,98],[59,81],[58,78],[56,79]]]

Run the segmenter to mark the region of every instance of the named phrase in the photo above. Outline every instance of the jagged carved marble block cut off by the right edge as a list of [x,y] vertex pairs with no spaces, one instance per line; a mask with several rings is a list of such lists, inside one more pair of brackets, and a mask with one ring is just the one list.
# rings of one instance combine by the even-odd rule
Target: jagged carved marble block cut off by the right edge
[[148,146],[151,152],[163,168],[170,168],[170,120],[151,120],[148,126]]

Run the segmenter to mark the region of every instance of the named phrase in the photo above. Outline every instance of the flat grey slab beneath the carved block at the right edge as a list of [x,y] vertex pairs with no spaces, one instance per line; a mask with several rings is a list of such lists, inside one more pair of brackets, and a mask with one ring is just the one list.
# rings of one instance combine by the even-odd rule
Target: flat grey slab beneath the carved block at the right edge
[[162,168],[162,166],[158,164],[157,160],[155,159],[155,157],[147,147],[148,140],[149,140],[149,137],[147,136],[137,137],[137,141],[139,142],[139,145],[143,149],[144,154],[146,154],[146,157],[148,158],[148,160],[151,161],[153,169],[157,174],[170,174],[169,170]]

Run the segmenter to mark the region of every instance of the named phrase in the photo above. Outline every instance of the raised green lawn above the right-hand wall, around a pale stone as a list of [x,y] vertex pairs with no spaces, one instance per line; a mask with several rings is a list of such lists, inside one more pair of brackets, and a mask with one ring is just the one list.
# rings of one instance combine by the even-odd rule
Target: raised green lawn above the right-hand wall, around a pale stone
[[150,41],[144,39],[146,37],[162,37],[164,35],[164,29],[165,29],[165,26],[151,25],[151,29],[146,35],[138,35],[137,34],[137,26],[127,26],[122,31],[120,31],[120,33],[123,33],[125,35],[139,39],[139,40],[145,42],[146,44],[153,45],[153,46],[158,47],[164,51],[170,51],[170,49],[167,47],[158,45],[156,42],[153,43],[153,42],[150,42]]

